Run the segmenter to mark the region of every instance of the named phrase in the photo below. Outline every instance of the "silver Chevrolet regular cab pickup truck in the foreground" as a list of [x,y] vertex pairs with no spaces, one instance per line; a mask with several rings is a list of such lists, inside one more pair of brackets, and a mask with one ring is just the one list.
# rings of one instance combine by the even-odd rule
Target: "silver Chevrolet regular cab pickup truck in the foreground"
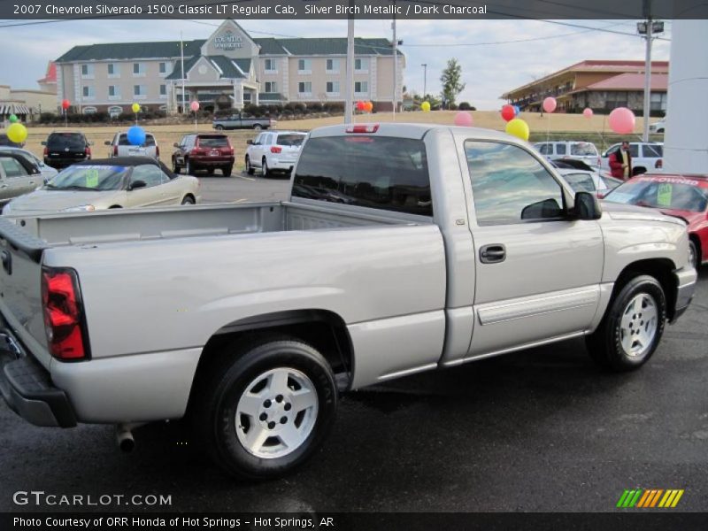
[[696,286],[681,219],[601,207],[462,127],[324,127],[288,201],[0,219],[0,238],[15,412],[115,424],[124,448],[186,417],[247,478],[311,457],[346,390],[578,336],[636,369]]

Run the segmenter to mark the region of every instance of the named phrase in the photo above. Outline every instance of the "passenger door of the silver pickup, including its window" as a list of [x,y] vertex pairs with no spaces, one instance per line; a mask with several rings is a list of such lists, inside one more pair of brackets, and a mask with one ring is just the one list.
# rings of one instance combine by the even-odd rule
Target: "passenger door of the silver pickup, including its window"
[[467,140],[474,327],[468,358],[582,335],[599,304],[604,244],[570,219],[571,195],[530,150]]

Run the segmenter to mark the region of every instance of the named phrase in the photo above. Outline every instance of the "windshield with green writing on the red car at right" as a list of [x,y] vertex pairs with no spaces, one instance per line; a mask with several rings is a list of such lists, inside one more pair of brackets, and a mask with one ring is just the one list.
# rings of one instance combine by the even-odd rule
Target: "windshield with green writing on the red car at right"
[[653,208],[704,212],[708,204],[706,189],[698,181],[664,177],[649,179],[640,177],[612,190],[605,201],[621,204],[636,204]]

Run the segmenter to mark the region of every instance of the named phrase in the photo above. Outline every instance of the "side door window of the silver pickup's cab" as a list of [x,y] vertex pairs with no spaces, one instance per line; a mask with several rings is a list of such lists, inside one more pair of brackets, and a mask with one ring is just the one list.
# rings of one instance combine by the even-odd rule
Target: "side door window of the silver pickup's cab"
[[465,142],[479,225],[561,219],[563,189],[529,152],[512,144]]

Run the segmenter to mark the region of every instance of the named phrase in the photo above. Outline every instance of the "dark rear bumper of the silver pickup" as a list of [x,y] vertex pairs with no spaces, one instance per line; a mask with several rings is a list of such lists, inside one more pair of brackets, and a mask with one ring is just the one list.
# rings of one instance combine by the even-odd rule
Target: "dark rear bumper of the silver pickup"
[[5,403],[35,426],[74,427],[68,397],[51,383],[50,373],[22,348],[0,318],[0,393]]

